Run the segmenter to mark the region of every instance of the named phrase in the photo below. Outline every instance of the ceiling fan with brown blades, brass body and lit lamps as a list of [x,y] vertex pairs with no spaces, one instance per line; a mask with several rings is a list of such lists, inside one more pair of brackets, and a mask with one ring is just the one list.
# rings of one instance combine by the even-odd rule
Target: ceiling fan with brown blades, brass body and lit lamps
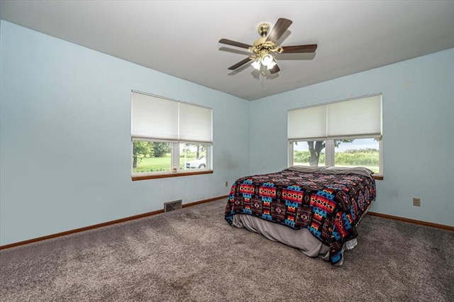
[[[228,39],[221,39],[219,43],[232,45],[236,47],[247,48],[253,52],[252,55],[246,57],[244,60],[228,67],[230,70],[235,70],[238,67],[245,65],[250,61],[254,61],[251,65],[258,70],[262,70],[262,74],[265,75],[265,69],[269,70],[271,74],[279,72],[279,66],[277,66],[273,53],[299,53],[299,52],[315,52],[317,49],[316,44],[308,45],[293,45],[293,46],[279,46],[276,45],[277,40],[282,37],[287,28],[292,24],[292,21],[286,18],[279,18],[275,26],[270,31],[270,24],[262,23],[258,26],[258,33],[261,38],[255,40],[253,45],[236,42]],[[268,32],[270,31],[270,34]],[[263,68],[262,68],[263,67]]]

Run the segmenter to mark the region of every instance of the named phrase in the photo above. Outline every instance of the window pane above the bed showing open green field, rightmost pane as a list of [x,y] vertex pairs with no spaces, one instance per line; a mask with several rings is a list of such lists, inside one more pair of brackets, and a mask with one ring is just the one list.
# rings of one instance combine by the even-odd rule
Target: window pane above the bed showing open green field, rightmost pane
[[336,167],[366,167],[380,173],[380,144],[375,138],[334,140]]

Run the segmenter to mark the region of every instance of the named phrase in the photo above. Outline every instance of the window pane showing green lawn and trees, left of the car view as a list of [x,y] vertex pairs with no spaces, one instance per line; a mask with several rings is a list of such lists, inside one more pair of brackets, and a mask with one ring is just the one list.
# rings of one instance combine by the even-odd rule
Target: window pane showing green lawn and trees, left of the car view
[[133,173],[171,171],[170,142],[133,141]]

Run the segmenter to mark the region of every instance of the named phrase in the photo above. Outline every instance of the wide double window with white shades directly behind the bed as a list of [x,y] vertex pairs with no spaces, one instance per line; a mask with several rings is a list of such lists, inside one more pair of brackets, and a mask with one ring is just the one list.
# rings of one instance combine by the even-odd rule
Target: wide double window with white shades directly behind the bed
[[382,96],[288,111],[289,166],[367,167],[381,176]]

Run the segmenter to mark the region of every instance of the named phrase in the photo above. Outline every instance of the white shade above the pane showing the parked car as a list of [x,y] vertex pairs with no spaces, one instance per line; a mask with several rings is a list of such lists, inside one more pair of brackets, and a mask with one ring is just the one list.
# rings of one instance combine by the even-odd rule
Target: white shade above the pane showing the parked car
[[179,140],[212,142],[211,109],[180,103]]

